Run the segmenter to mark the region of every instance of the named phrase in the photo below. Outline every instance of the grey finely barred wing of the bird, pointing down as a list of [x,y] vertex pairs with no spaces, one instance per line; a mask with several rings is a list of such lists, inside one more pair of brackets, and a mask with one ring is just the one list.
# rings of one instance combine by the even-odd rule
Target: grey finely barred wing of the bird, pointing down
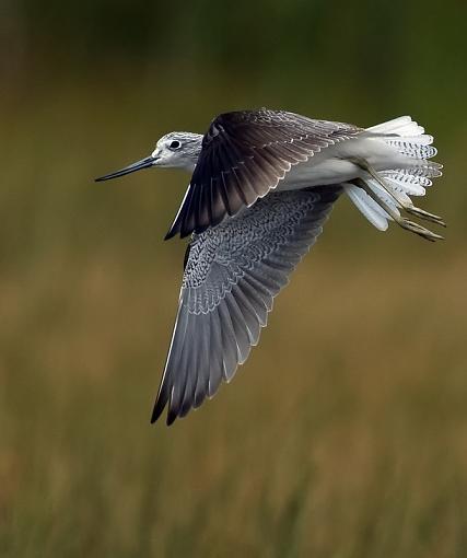
[[233,377],[339,194],[331,186],[272,193],[194,236],[152,421],[168,403],[172,423]]

